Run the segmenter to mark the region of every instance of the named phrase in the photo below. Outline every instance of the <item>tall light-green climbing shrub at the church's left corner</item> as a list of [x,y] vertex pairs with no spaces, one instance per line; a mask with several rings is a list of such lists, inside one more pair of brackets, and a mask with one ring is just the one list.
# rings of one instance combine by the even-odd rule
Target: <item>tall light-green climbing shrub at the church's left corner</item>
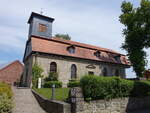
[[38,78],[43,77],[43,69],[36,63],[32,67],[32,84],[37,87]]

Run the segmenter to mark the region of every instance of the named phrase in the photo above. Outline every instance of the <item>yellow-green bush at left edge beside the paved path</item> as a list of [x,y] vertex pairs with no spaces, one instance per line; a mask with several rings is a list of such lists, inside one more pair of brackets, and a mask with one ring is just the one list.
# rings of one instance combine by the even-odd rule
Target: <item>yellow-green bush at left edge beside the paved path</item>
[[0,113],[9,113],[13,108],[12,90],[8,84],[0,83]]

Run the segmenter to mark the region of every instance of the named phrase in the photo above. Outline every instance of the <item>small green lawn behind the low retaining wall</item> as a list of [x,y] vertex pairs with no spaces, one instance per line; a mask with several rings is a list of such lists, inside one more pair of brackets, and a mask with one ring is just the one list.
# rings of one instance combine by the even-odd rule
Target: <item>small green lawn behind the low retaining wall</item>
[[[45,98],[50,99],[52,96],[52,89],[51,88],[41,88],[41,89],[34,89],[37,93],[44,96]],[[64,101],[68,98],[69,88],[56,88],[55,89],[55,99]]]

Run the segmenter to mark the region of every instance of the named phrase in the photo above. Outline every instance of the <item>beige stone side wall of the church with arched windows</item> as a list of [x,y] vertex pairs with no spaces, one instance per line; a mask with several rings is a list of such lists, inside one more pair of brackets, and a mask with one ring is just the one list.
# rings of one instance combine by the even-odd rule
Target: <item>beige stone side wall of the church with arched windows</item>
[[[33,62],[34,62],[33,57]],[[69,57],[61,57],[55,55],[38,55],[37,63],[44,69],[43,75],[46,77],[50,71],[50,63],[56,62],[57,64],[57,73],[59,81],[63,82],[63,86],[67,86],[69,80],[71,80],[71,65],[75,64],[77,67],[77,79],[80,79],[85,74],[88,74],[89,71],[94,72],[95,75],[103,75],[103,68],[107,68],[108,76],[113,76],[115,70],[118,69],[120,76],[125,78],[125,67],[110,63],[95,62],[91,60],[83,60]],[[33,63],[34,64],[34,63]],[[94,66],[95,68],[87,68],[89,65]]]

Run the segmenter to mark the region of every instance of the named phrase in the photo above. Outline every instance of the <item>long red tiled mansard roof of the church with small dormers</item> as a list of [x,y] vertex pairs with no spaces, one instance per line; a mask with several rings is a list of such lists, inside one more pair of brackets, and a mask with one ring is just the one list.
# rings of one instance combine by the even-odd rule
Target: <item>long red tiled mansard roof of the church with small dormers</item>
[[[32,51],[130,65],[129,61],[126,59],[125,55],[123,54],[120,54],[110,49],[101,48],[89,44],[83,44],[71,40],[64,40],[56,37],[51,39],[46,39],[46,38],[32,36],[31,44],[32,44]],[[75,47],[74,54],[71,54],[67,51],[67,47],[69,46]],[[97,58],[94,55],[94,52],[96,51],[101,52],[100,58]],[[114,59],[114,56],[117,55],[120,55],[121,62],[117,62]]]

